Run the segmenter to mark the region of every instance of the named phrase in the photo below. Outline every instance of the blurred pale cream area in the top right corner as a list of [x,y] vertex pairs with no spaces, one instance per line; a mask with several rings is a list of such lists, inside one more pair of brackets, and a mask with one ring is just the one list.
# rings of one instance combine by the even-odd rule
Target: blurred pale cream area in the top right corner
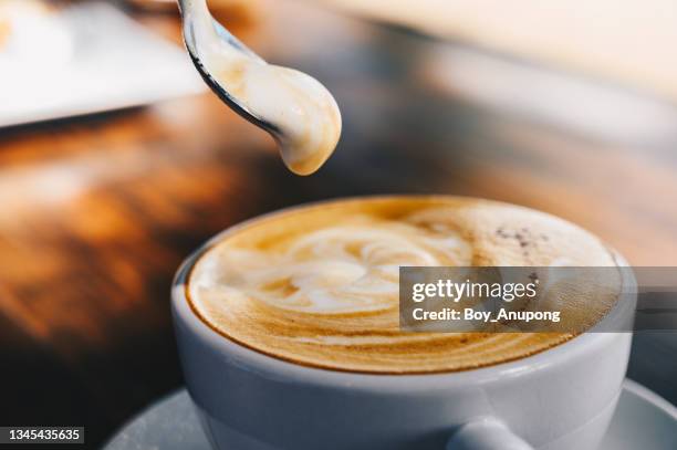
[[675,0],[324,0],[677,101]]

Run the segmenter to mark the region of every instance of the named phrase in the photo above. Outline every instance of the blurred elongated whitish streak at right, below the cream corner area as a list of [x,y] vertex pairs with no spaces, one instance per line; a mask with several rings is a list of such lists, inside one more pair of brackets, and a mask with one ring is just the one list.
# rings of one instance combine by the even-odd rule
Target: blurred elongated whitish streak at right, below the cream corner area
[[677,140],[674,103],[473,48],[429,44],[417,75],[441,93],[567,132],[634,145]]

